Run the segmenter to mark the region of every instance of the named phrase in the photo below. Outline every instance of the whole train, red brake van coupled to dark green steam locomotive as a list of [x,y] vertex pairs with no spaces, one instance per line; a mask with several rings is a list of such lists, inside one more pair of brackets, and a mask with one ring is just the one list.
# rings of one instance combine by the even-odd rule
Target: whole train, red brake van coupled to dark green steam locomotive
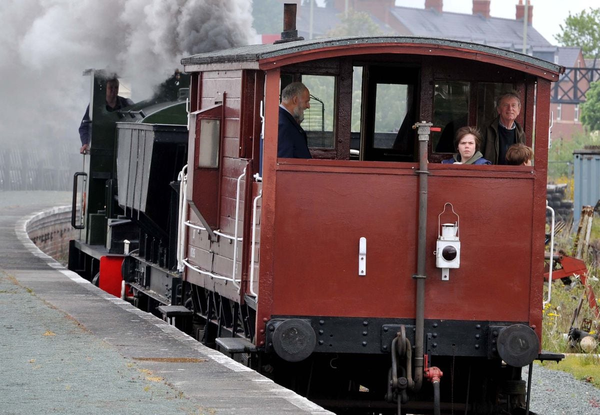
[[[89,74],[70,269],[338,413],[527,413],[521,369],[561,358],[540,339],[563,68],[460,41],[293,32],[182,64],[175,101],[118,113]],[[294,81],[311,91],[311,160],[277,157]],[[533,166],[440,164],[503,91],[521,97]]]

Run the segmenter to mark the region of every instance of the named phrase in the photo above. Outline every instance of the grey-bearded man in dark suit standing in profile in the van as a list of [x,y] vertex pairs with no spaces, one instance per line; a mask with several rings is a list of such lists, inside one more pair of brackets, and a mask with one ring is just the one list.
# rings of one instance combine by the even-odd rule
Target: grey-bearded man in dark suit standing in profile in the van
[[304,110],[310,108],[310,93],[302,82],[292,82],[281,91],[277,157],[312,158],[308,139],[300,123]]

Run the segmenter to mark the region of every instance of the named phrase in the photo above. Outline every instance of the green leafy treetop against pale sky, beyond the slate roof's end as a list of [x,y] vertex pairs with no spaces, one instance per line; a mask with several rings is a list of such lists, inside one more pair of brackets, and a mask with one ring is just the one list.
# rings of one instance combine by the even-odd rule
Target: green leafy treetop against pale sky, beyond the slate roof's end
[[569,13],[560,30],[562,33],[554,38],[564,46],[581,47],[586,58],[596,58],[600,54],[600,8],[590,7],[574,15]]

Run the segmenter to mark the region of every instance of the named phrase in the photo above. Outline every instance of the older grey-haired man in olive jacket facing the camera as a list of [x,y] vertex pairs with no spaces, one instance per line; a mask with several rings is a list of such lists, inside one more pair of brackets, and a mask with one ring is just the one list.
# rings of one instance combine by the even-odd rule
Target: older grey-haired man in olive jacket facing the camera
[[506,151],[513,144],[524,144],[523,127],[516,121],[521,101],[515,92],[505,92],[496,98],[498,116],[485,127],[483,154],[493,164],[506,164]]

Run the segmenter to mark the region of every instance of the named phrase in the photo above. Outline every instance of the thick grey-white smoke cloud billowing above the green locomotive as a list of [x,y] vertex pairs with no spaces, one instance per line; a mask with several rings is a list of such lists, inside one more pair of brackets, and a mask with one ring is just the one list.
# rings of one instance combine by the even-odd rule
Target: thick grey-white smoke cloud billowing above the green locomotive
[[248,0],[2,0],[0,149],[78,153],[84,70],[118,73],[142,100],[182,57],[249,43],[251,23]]

